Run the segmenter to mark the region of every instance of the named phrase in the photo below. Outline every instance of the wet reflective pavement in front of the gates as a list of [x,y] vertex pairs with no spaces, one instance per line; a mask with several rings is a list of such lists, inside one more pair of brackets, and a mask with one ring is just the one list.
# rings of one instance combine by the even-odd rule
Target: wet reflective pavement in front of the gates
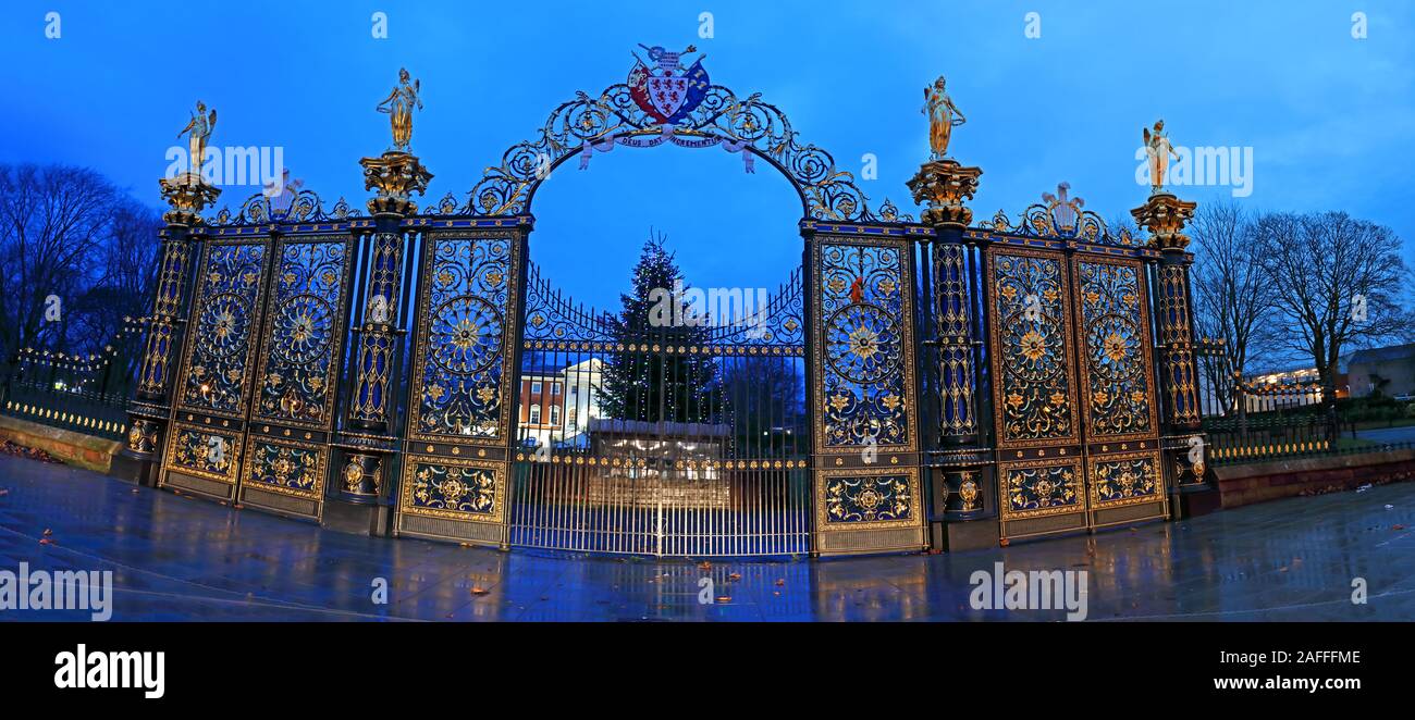
[[[40,542],[45,529],[48,545]],[[112,570],[117,621],[1064,617],[972,610],[969,579],[999,562],[1009,571],[1084,570],[1091,621],[1415,620],[1415,484],[992,550],[713,560],[705,570],[688,560],[362,538],[0,457],[0,571],[17,573],[20,563],[31,571]],[[709,593],[703,577],[712,579]],[[388,586],[382,604],[374,601],[379,579]],[[1365,604],[1351,601],[1354,579],[1364,579]],[[0,621],[88,618],[0,610]]]

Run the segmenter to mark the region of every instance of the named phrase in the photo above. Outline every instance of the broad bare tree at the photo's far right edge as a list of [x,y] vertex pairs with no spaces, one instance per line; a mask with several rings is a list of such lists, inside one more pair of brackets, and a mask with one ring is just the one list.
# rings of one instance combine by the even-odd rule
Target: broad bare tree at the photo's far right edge
[[1409,337],[1401,240],[1344,212],[1268,214],[1255,236],[1279,317],[1278,342],[1312,358],[1323,397],[1336,399],[1346,349]]

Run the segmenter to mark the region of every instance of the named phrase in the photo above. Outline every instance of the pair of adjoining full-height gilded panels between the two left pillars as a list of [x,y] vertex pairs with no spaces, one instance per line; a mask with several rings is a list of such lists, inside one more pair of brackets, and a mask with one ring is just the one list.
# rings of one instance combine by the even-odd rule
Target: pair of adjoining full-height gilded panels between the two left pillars
[[348,235],[205,245],[164,484],[320,516],[350,248]]

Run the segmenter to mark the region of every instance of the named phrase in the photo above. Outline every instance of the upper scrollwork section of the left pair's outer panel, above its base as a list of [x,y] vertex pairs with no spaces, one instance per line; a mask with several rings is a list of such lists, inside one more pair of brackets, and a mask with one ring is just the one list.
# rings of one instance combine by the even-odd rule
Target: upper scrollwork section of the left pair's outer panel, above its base
[[180,376],[181,407],[232,419],[245,414],[267,250],[266,242],[207,246]]

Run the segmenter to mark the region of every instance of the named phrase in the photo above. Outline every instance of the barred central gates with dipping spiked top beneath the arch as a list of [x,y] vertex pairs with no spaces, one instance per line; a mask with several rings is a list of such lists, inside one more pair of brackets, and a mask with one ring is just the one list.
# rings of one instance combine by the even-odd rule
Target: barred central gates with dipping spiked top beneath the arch
[[573,306],[532,266],[511,545],[654,556],[809,552],[799,273],[734,323]]

